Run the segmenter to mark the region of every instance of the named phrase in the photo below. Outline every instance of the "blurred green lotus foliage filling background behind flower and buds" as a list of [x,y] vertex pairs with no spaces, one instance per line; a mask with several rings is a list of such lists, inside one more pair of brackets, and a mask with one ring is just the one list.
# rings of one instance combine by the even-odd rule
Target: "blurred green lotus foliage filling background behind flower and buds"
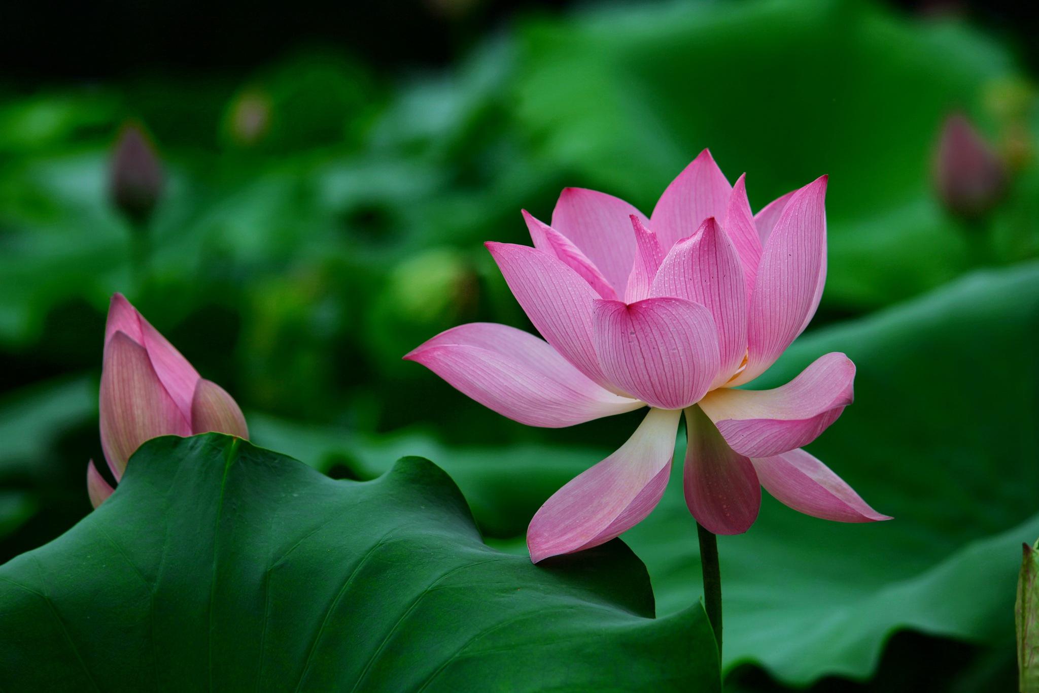
[[[959,21],[855,0],[528,17],[458,64],[407,77],[307,50],[247,79],[144,74],[32,94],[0,84],[0,560],[89,508],[114,291],[234,394],[259,444],[362,478],[426,455],[481,529],[515,545],[537,505],[622,443],[639,415],[530,429],[400,356],[461,322],[529,328],[481,245],[526,242],[521,208],[548,217],[576,185],[648,212],[710,146],[731,180],[747,172],[755,210],[830,175],[827,289],[780,370],[829,349],[856,361],[858,401],[818,452],[897,516],[849,528],[766,504],[747,537],[723,541],[730,664],[767,672],[745,676],[748,690],[867,678],[878,662],[884,681],[885,666],[907,666],[885,664],[904,663],[899,647],[920,645],[897,637],[885,660],[884,642],[911,628],[986,643],[958,658],[980,671],[985,647],[1012,635],[998,599],[1012,603],[1002,585],[1017,557],[1004,565],[1001,548],[1034,539],[1014,528],[1035,519],[1034,420],[1018,418],[1039,399],[1025,339],[1039,278],[1012,266],[1039,255],[1035,106],[1007,46]],[[933,146],[954,110],[1011,169],[1004,199],[970,223],[933,192]],[[167,172],[144,266],[106,187],[128,117],[146,125]],[[979,267],[989,270],[941,288]],[[625,536],[663,611],[695,598],[692,536],[673,495]],[[776,585],[761,584],[761,556]],[[966,578],[927,591],[932,578],[920,577],[942,570],[990,591],[976,599]],[[838,616],[848,622],[833,620],[842,635],[829,637],[820,621]],[[768,628],[755,635],[756,617]],[[993,661],[986,681],[1006,669]]]

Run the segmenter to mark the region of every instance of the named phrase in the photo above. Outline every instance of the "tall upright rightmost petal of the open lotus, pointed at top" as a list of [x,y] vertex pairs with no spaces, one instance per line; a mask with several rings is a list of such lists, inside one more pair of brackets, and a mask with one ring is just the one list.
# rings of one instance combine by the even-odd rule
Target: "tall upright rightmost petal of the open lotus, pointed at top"
[[765,243],[750,297],[747,367],[738,385],[764,373],[807,325],[825,277],[826,177],[798,190]]

